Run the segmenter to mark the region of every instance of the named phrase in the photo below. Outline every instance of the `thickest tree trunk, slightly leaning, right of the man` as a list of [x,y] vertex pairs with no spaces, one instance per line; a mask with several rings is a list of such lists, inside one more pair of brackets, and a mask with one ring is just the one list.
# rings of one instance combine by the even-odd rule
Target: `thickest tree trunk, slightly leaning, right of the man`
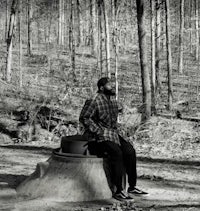
[[143,94],[143,106],[144,106],[142,121],[145,121],[149,119],[151,116],[151,85],[150,85],[149,71],[147,67],[144,0],[136,0],[136,5],[137,5],[138,38],[139,38],[139,50],[140,50],[142,91],[143,91],[142,94]]

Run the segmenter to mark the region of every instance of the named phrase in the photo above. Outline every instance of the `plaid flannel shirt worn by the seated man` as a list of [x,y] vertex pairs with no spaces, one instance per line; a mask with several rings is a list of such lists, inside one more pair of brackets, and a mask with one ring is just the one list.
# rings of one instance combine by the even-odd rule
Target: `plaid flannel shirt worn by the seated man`
[[117,117],[118,103],[114,97],[108,99],[103,93],[98,93],[94,99],[86,100],[79,120],[85,130],[97,141],[112,141],[120,144]]

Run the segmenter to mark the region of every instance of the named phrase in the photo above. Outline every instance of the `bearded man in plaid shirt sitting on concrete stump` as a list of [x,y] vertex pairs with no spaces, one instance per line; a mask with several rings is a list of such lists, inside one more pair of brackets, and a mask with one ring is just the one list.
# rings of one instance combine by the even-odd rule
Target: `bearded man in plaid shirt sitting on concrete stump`
[[[95,140],[91,146],[97,155],[107,155],[111,164],[111,173],[116,192],[113,197],[118,200],[130,200],[130,194],[146,194],[136,188],[136,154],[133,146],[124,140],[117,130],[119,106],[115,92],[108,78],[101,78],[97,95],[87,100],[80,114],[80,122],[85,127],[89,139]],[[91,149],[91,150],[93,150]],[[90,150],[90,149],[89,149]],[[128,175],[128,194],[123,191],[123,169]]]

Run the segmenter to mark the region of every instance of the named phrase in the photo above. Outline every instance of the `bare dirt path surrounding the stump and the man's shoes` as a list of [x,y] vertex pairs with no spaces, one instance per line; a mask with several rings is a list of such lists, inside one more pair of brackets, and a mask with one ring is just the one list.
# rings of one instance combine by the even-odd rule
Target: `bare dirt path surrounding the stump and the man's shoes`
[[[200,167],[159,162],[138,162],[138,186],[149,192],[135,202],[119,205],[116,200],[66,203],[53,200],[27,201],[16,197],[16,186],[45,161],[51,149],[0,147],[0,210],[200,210]],[[119,209],[119,207],[122,207]],[[132,208],[131,208],[132,207]],[[136,207],[137,209],[133,208]],[[109,208],[109,209],[108,209]]]

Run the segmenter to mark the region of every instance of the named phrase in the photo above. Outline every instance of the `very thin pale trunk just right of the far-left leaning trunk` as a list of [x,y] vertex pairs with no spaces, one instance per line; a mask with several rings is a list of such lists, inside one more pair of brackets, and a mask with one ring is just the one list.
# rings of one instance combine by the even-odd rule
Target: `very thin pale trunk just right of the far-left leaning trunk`
[[22,29],[22,0],[19,1],[19,10],[18,10],[18,25],[19,25],[19,86],[22,88],[23,86],[23,78],[22,78],[22,36],[21,36],[21,29]]

